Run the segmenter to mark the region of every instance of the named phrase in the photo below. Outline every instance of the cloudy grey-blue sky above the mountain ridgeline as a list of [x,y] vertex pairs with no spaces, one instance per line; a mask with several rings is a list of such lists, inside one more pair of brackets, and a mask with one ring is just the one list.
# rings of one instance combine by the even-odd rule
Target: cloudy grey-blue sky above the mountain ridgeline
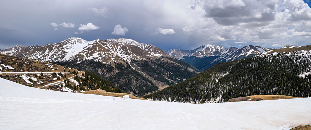
[[0,0],[0,49],[70,37],[168,50],[311,44],[309,0]]

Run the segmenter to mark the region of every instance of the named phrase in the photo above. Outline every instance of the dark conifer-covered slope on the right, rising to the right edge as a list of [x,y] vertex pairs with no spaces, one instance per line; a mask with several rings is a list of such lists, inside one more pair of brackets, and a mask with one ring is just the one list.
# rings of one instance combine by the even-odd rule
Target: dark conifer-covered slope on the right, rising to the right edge
[[[289,50],[290,49],[290,50]],[[250,51],[249,51],[250,52]],[[224,62],[146,96],[175,102],[224,102],[248,95],[311,96],[311,45],[268,50]]]

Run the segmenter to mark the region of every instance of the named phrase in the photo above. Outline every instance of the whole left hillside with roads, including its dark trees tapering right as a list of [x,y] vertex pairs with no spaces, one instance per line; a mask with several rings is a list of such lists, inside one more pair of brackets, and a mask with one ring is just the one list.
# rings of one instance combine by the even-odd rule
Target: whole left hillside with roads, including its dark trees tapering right
[[100,88],[107,92],[126,93],[91,72],[79,72],[67,66],[4,54],[0,54],[0,77],[23,85],[56,91],[79,92]]

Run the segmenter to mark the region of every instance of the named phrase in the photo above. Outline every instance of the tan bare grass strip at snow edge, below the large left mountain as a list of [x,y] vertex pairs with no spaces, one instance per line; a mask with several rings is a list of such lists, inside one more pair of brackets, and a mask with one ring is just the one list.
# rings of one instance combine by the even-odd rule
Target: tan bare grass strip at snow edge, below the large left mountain
[[121,98],[124,95],[129,95],[131,99],[147,100],[147,99],[144,99],[144,98],[136,97],[133,94],[106,92],[105,90],[101,90],[101,89],[92,90],[92,91],[85,91],[85,92],[82,92],[82,93],[85,93],[85,94],[96,94],[96,95],[103,95],[103,96],[112,96],[112,97],[121,97]]

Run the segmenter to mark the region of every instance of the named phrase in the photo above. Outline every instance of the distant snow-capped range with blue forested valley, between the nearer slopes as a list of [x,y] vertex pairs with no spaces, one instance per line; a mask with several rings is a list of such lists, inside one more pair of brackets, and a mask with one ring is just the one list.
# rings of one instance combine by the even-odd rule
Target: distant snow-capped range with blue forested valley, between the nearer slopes
[[269,50],[260,46],[230,47],[225,49],[219,45],[203,45],[194,50],[171,49],[166,52],[176,59],[189,63],[199,70],[206,70],[221,62],[250,58]]

